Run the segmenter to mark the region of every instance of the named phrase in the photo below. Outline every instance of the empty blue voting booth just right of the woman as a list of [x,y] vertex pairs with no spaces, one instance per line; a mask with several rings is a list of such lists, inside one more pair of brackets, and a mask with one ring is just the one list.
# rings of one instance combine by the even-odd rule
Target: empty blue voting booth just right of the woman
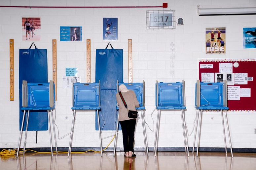
[[176,83],[164,83],[156,82],[156,109],[158,110],[157,114],[157,124],[156,124],[156,134],[155,134],[155,143],[154,143],[154,153],[157,154],[158,138],[159,138],[159,126],[160,126],[160,117],[162,110],[180,110],[182,128],[183,128],[183,137],[185,152],[188,152],[188,137],[186,131],[186,122],[185,122],[185,82],[176,82]]

